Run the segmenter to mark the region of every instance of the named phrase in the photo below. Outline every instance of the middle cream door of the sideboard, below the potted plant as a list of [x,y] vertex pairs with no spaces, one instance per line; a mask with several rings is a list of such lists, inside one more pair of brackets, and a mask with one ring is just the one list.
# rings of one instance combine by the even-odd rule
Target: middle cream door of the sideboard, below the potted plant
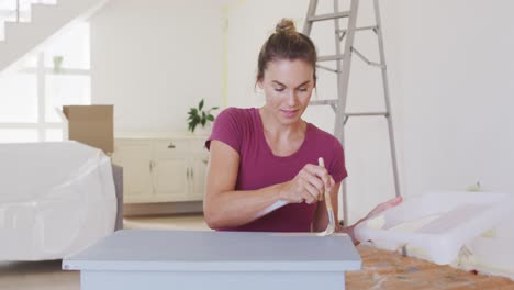
[[188,200],[190,171],[185,157],[158,158],[154,166],[154,187],[158,201]]

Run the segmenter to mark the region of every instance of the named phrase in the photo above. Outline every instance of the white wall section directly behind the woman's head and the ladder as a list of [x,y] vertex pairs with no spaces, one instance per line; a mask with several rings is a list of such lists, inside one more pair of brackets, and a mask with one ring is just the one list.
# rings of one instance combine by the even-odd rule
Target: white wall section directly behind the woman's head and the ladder
[[[386,34],[386,52],[390,70],[391,99],[396,129],[396,138],[401,140],[401,96],[399,94],[399,9],[396,1],[381,1]],[[227,13],[227,104],[232,107],[258,107],[264,102],[261,92],[255,89],[257,56],[261,45],[275,31],[275,25],[282,18],[293,19],[297,29],[303,29],[309,5],[308,0],[282,1],[239,1]],[[340,10],[349,9],[349,1],[340,1]],[[333,11],[332,1],[320,1],[317,12]],[[370,25],[373,20],[371,0],[362,0],[358,24]],[[316,23],[313,38],[319,55],[335,53],[332,21]],[[378,60],[377,37],[372,32],[356,36],[356,46],[371,59]],[[334,66],[335,67],[335,66]],[[380,70],[368,67],[355,59],[353,63],[351,85],[349,87],[348,111],[383,111]],[[317,69],[317,93],[313,99],[337,98],[336,75]],[[304,118],[315,125],[333,132],[334,112],[329,107],[311,107]],[[375,204],[394,197],[391,157],[387,123],[383,118],[365,118],[348,121],[346,131],[346,158],[349,177],[348,204],[350,221],[362,217]],[[402,143],[398,144],[401,158]],[[339,200],[340,203],[342,200]],[[339,209],[342,205],[339,204]],[[343,217],[342,211],[340,217]]]

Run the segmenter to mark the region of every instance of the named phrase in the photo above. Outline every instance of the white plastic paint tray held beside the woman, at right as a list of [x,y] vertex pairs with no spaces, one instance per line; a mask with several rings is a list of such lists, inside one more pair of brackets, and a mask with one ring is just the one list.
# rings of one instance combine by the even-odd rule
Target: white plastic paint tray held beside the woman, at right
[[439,265],[473,254],[467,244],[509,219],[512,194],[501,192],[433,191],[409,197],[398,207],[360,223],[357,239],[407,253]]

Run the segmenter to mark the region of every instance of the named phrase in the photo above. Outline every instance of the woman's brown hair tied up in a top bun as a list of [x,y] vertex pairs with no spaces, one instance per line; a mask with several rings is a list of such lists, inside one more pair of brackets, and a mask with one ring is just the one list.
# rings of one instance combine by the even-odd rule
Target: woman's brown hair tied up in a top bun
[[316,47],[309,36],[297,31],[290,19],[282,19],[260,48],[257,81],[264,78],[268,63],[278,59],[304,60],[314,69],[314,83],[316,82]]

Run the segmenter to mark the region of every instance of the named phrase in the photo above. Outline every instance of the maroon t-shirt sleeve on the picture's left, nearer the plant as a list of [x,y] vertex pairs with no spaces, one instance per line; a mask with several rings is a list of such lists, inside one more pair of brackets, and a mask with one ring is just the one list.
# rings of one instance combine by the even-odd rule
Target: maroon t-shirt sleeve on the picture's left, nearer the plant
[[205,147],[210,149],[211,141],[216,140],[225,143],[241,154],[243,140],[242,120],[237,118],[236,108],[223,110],[214,120],[211,136],[205,141]]

